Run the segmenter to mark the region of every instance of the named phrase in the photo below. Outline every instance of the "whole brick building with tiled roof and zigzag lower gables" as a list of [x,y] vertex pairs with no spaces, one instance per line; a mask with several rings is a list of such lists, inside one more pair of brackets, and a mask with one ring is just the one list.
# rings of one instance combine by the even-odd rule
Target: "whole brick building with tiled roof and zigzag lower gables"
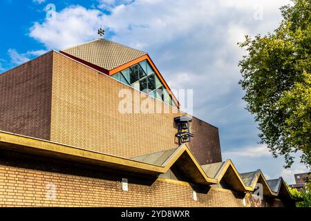
[[218,128],[180,111],[149,55],[106,39],[0,75],[0,153],[0,206],[295,202],[281,177],[223,162]]

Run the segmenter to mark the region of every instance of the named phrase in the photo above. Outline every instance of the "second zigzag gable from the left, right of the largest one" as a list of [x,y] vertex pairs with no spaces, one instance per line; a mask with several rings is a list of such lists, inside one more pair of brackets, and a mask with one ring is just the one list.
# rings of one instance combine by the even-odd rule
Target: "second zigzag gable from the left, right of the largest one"
[[214,164],[206,164],[203,165],[202,168],[205,173],[209,175],[209,177],[215,178],[220,184],[225,183],[229,189],[241,192],[247,190],[247,186],[245,186],[231,160]]

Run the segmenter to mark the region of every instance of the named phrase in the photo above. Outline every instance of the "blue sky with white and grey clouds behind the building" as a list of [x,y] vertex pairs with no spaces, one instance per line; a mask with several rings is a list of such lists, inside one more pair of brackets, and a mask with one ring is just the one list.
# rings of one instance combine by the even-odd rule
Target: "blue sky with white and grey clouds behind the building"
[[49,50],[105,37],[149,53],[171,88],[194,90],[194,116],[219,128],[223,160],[240,173],[261,169],[267,179],[307,171],[299,156],[291,169],[258,144],[254,116],[245,110],[238,61],[245,35],[265,35],[281,22],[289,0],[3,0],[0,73]]

